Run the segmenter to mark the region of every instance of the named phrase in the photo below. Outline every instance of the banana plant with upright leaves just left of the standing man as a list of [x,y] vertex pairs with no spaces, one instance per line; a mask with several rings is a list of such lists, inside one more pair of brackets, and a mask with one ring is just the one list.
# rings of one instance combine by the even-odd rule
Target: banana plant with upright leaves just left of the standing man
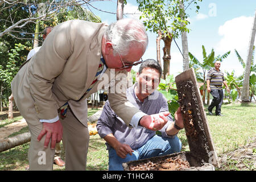
[[[202,49],[203,49],[203,63],[200,63],[200,61],[198,59],[196,59],[195,56],[192,55],[191,52],[188,52],[188,55],[191,59],[191,61],[197,65],[199,65],[199,67],[203,70],[203,80],[204,80],[204,88],[203,88],[203,102],[205,104],[205,92],[206,92],[206,72],[214,67],[214,63],[216,61],[223,61],[226,57],[228,57],[230,51],[224,53],[224,55],[220,56],[216,56],[214,57],[214,49],[212,48],[212,51],[210,52],[210,54],[207,56],[207,53],[205,51],[205,47],[202,46]],[[209,100],[210,100],[210,94],[208,93],[208,96],[207,96],[207,104],[209,105]]]

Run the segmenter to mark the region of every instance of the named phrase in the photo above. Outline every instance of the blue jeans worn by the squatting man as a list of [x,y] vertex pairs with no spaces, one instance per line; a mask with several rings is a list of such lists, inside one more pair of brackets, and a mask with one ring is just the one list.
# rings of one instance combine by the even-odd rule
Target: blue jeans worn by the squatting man
[[155,156],[168,155],[181,150],[180,139],[159,137],[155,135],[142,147],[134,150],[133,155],[127,154],[125,159],[120,158],[114,148],[109,149],[109,171],[123,171],[122,163],[131,160],[147,159]]

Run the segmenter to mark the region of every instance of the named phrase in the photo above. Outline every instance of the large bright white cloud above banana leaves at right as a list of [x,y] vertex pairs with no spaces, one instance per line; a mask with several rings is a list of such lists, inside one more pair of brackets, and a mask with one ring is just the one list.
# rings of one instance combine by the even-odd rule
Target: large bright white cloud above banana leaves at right
[[234,49],[236,49],[242,59],[246,61],[252,26],[252,16],[240,16],[238,18],[233,18],[232,20],[226,21],[218,28],[218,34],[222,36],[222,38],[214,49],[221,55],[222,53],[231,51],[230,55],[223,61],[221,65],[223,70],[226,70],[229,73],[234,70],[237,76],[242,75],[243,68],[238,61]]

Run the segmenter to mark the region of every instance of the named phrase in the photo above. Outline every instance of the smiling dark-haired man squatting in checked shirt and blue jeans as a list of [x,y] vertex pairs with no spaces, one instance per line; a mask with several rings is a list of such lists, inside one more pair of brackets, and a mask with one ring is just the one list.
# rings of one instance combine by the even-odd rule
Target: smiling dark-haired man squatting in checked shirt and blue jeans
[[[146,114],[168,113],[166,98],[156,90],[161,75],[162,68],[158,62],[152,59],[143,61],[136,76],[137,82],[126,90],[127,100]],[[106,101],[97,130],[100,137],[106,140],[109,170],[123,170],[122,163],[131,160],[180,152],[181,142],[177,133],[184,127],[180,108],[175,113],[175,122],[170,114],[167,118],[168,122],[159,130],[162,136],[145,127],[130,128]]]

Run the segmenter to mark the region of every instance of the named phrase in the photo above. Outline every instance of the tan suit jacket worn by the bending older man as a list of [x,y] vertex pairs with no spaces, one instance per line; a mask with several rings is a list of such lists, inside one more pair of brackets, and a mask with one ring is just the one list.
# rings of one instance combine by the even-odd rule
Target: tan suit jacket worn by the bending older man
[[[16,105],[27,122],[39,125],[39,119],[55,118],[57,109],[68,101],[77,119],[87,126],[86,98],[100,89],[99,85],[104,86],[102,81],[115,80],[112,88],[124,85],[126,80],[118,76],[110,81],[107,69],[104,79],[84,96],[100,64],[101,40],[107,27],[104,23],[69,20],[53,28],[11,82]],[[127,101],[126,88],[122,93],[109,93],[108,98],[115,113],[129,125],[139,110]]]

